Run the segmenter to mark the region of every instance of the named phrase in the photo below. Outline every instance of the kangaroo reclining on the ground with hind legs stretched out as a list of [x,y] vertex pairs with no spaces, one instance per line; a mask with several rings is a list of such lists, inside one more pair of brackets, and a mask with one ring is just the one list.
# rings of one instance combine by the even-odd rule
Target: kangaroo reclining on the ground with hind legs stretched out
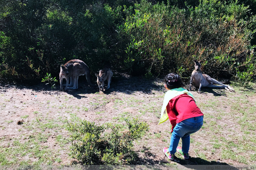
[[[207,74],[202,74],[201,63],[202,61],[194,60],[195,62],[195,69],[193,70],[191,77],[190,77],[190,86],[189,90],[191,91],[191,84],[193,82],[194,86],[196,86],[198,89],[198,93],[201,94],[201,87],[211,87],[211,88],[225,88],[226,90],[229,90],[231,92],[234,92],[234,89],[232,89],[230,86],[227,86],[223,83],[218,82],[217,80],[211,78]],[[214,84],[219,84],[222,86],[215,86]]]

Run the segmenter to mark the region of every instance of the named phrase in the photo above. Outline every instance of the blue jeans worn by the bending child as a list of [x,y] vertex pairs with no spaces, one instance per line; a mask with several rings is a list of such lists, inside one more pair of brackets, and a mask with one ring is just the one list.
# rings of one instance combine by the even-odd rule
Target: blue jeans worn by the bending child
[[190,144],[190,134],[197,132],[203,125],[203,116],[189,118],[177,123],[173,129],[169,153],[174,154],[182,139],[182,152],[188,153]]

